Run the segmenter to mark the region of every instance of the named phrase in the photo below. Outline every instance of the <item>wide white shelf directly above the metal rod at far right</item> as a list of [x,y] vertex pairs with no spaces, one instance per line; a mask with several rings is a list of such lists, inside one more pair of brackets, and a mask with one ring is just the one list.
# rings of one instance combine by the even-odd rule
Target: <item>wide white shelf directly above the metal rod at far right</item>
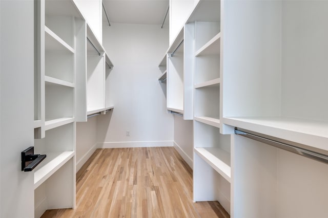
[[328,150],[328,122],[287,117],[228,117],[223,124]]

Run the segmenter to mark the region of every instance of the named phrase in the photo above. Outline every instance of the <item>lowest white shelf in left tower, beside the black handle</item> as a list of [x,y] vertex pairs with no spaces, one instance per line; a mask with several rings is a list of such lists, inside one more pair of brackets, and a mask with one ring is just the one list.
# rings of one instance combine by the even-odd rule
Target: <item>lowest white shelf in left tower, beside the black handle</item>
[[[53,173],[74,156],[74,151],[50,152],[34,172],[34,189],[44,183]],[[50,187],[51,188],[51,187]]]

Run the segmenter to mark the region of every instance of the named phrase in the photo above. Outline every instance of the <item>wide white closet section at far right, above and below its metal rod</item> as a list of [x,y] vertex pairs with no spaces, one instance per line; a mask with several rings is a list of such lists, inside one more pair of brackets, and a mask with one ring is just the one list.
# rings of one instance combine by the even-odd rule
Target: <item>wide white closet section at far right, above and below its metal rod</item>
[[[328,4],[225,1],[223,10],[222,132],[326,152]],[[233,137],[232,215],[324,217],[328,165],[269,144]]]

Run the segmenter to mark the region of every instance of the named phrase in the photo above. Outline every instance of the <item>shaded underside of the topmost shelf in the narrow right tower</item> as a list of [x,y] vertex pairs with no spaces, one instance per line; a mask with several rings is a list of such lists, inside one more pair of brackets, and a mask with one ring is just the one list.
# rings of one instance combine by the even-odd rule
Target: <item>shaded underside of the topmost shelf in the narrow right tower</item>
[[196,4],[194,10],[191,12],[186,23],[193,21],[220,21],[220,6],[219,0],[200,0]]

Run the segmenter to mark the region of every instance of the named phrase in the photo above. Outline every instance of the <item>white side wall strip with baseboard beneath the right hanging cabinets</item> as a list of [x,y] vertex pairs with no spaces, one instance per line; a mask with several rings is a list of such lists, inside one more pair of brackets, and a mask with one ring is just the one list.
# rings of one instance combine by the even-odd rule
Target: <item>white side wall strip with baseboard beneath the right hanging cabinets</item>
[[174,115],[174,147],[193,168],[193,121]]

